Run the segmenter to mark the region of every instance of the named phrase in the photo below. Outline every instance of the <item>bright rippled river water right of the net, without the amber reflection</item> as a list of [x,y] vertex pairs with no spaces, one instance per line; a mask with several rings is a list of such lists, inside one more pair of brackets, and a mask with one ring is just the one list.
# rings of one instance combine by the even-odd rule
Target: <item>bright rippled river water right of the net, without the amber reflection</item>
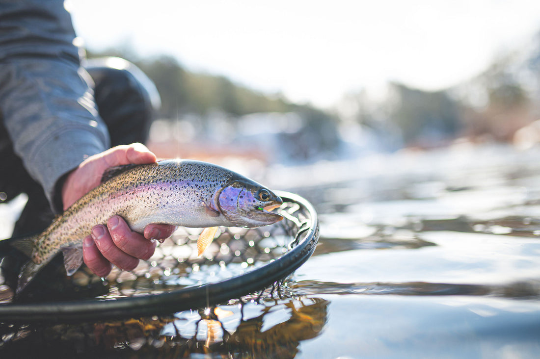
[[299,357],[539,357],[539,155],[460,146],[313,166],[321,183],[296,192],[321,238],[293,287],[328,307]]

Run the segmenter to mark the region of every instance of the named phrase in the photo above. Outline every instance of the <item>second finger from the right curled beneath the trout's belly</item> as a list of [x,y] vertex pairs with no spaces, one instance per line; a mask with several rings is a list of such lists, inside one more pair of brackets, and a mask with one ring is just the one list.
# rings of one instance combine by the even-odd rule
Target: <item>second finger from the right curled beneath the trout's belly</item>
[[107,227],[114,244],[124,253],[143,260],[149,259],[154,254],[156,242],[149,241],[140,233],[131,231],[122,217],[112,216],[107,221]]

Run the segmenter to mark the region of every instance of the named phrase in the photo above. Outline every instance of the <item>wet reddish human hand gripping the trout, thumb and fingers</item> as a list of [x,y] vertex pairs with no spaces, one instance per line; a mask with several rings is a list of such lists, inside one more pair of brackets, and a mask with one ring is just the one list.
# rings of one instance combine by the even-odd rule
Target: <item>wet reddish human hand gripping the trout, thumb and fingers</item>
[[[93,155],[84,160],[66,178],[62,187],[64,211],[101,182],[107,168],[128,164],[156,162],[156,155],[142,144],[122,145]],[[165,239],[175,226],[150,224],[144,234],[131,231],[120,216],[112,216],[107,225],[92,228],[92,234],[83,240],[83,258],[86,266],[101,277],[109,274],[112,264],[123,270],[132,270],[139,259],[149,259],[156,249],[156,239]]]

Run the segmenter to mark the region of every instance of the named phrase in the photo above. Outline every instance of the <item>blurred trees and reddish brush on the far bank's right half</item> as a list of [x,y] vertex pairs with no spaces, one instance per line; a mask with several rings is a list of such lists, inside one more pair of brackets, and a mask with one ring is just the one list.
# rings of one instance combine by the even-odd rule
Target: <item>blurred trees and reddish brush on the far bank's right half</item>
[[[523,133],[531,144],[540,144],[538,97],[540,34],[530,46],[498,56],[483,72],[456,86],[424,91],[394,82],[376,101],[366,90],[347,94],[337,112],[382,137],[381,128],[387,128],[387,134],[397,131],[408,147],[444,146],[457,138],[519,145]],[[531,135],[535,123],[537,134]]]

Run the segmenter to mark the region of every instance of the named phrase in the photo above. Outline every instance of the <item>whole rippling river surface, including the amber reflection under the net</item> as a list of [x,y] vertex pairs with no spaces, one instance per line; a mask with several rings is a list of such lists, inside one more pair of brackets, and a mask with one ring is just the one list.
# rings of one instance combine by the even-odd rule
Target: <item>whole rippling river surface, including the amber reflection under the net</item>
[[[280,296],[213,313],[27,328],[4,353],[83,357],[540,356],[540,150],[461,146],[275,167],[320,214]],[[85,355],[85,356],[84,356]]]

